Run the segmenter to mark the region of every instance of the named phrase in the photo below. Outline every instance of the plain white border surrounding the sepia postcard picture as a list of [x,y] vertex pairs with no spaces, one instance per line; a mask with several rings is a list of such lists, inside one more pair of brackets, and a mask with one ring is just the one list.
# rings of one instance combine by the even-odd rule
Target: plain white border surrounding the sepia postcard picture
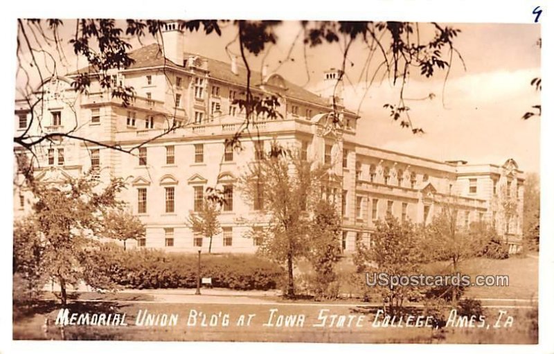
[[[156,8],[153,7],[156,5]],[[439,21],[439,22],[509,22],[531,23],[534,15],[531,11],[535,6],[541,6],[544,11],[542,24],[542,63],[554,62],[552,34],[554,33],[553,18],[549,18],[548,1],[452,1],[452,0],[366,0],[366,1],[298,1],[279,0],[260,3],[245,0],[213,0],[213,1],[155,1],[145,5],[133,1],[8,1],[3,4],[0,21],[3,37],[3,55],[0,71],[3,83],[1,99],[3,100],[3,119],[8,121],[8,127],[3,126],[0,139],[0,161],[6,172],[0,175],[2,195],[9,196],[11,191],[12,167],[12,132],[10,125],[13,119],[15,91],[13,82],[16,68],[16,30],[18,17],[116,17],[116,18],[220,18],[220,19],[372,19],[398,21]],[[499,58],[501,60],[501,58]],[[553,71],[548,64],[543,64],[542,79],[544,82],[543,97],[554,97],[554,91],[548,83],[553,82]],[[554,164],[551,163],[551,151],[554,148],[554,122],[551,118],[551,101],[542,102],[541,119],[541,254],[539,260],[539,346],[499,346],[499,345],[379,345],[371,344],[267,344],[267,343],[223,343],[223,342],[12,342],[12,306],[10,272],[12,260],[12,204],[1,205],[3,213],[3,243],[0,247],[2,262],[1,271],[1,302],[0,302],[0,351],[8,353],[40,353],[43,351],[58,353],[98,353],[101,351],[115,352],[132,350],[139,353],[152,352],[232,352],[246,353],[281,353],[283,351],[318,351],[320,353],[336,353],[348,351],[351,353],[400,353],[404,351],[421,351],[425,353],[444,353],[445,351],[465,353],[477,352],[510,352],[510,353],[554,353],[553,326],[553,236],[554,236]]]

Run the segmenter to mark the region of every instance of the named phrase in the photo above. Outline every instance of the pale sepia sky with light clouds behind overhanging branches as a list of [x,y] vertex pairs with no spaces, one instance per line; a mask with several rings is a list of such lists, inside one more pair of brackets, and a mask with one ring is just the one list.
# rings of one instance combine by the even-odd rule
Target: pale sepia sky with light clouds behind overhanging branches
[[[383,105],[397,102],[398,85],[382,75],[382,69],[368,85],[381,57],[379,53],[373,55],[366,79],[364,67],[370,51],[364,42],[352,44],[346,60],[343,98],[346,107],[360,116],[359,143],[440,161],[463,159],[469,163],[501,164],[513,158],[521,170],[539,172],[540,119],[521,119],[532,105],[540,103],[539,93],[530,86],[530,80],[541,75],[539,25],[441,25],[461,29],[454,46],[463,62],[454,55],[447,80],[446,71],[425,78],[415,68],[404,89],[413,124],[425,134],[414,135],[391,120]],[[422,39],[434,34],[430,24],[420,23],[419,28]],[[60,37],[69,65],[60,67],[62,74],[85,64],[67,44],[74,30],[75,22],[64,20]],[[315,48],[305,46],[301,26],[296,21],[283,22],[275,33],[278,38],[275,45],[268,46],[257,57],[249,55],[253,69],[260,71],[262,64],[267,64],[269,73],[280,73],[297,85],[321,92],[324,71],[342,65],[343,41]],[[238,42],[233,42],[235,36],[232,24],[224,24],[221,37],[187,33],[185,50],[229,61],[229,53],[239,54]],[[146,37],[142,43],[154,41]],[[136,39],[129,42],[133,48],[141,46]],[[20,74],[17,85],[24,80]],[[429,94],[434,98],[429,99]]]

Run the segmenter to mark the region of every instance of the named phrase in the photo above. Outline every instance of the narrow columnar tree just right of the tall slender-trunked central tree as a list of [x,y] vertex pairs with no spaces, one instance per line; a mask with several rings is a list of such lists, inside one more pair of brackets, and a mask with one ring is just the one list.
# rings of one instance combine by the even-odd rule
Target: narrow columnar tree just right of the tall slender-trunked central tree
[[310,222],[307,259],[315,271],[314,291],[316,299],[337,297],[338,287],[335,265],[341,257],[341,218],[337,207],[328,200],[320,200],[314,208]]

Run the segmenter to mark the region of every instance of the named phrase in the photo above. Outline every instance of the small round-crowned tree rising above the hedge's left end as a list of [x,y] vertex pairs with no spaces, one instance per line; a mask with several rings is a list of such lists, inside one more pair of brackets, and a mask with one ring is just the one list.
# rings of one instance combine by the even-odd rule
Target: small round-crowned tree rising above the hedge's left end
[[146,230],[139,218],[128,211],[112,209],[105,215],[100,236],[123,241],[123,249],[127,249],[127,240],[137,240],[145,237]]

